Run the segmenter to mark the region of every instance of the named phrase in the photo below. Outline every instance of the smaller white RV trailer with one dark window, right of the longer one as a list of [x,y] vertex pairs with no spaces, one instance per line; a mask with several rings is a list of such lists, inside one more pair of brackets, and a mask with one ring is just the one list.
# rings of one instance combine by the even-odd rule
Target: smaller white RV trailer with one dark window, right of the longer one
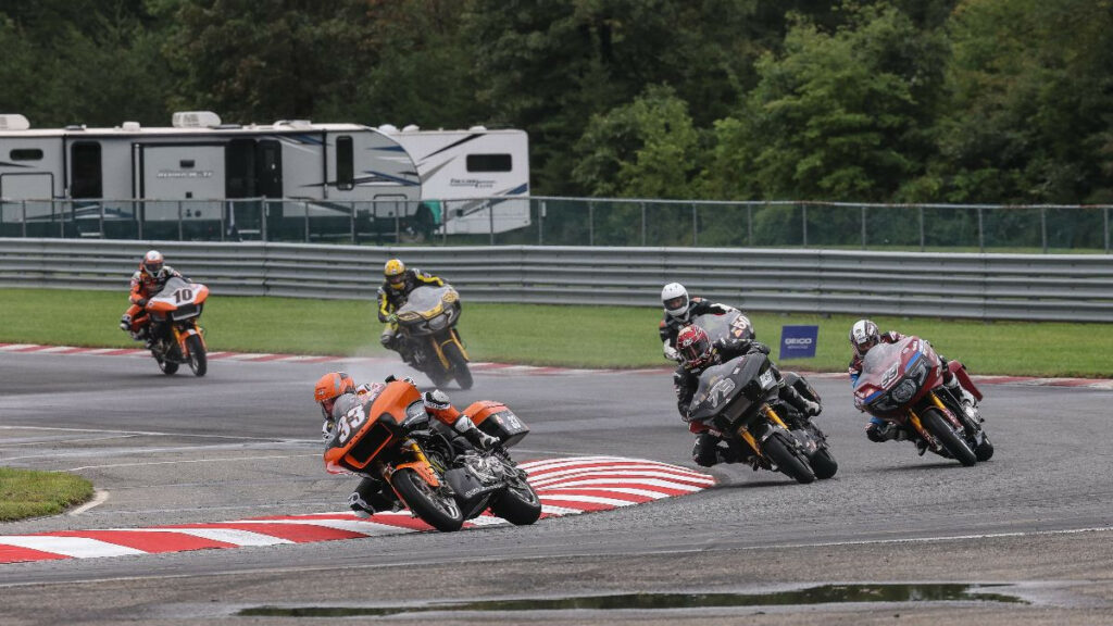
[[[530,139],[524,130],[422,130],[391,125],[378,130],[417,165],[421,197],[447,234],[495,233],[530,224]],[[492,200],[495,197],[523,198]],[[483,198],[483,199],[477,199]],[[494,206],[492,219],[491,207]]]

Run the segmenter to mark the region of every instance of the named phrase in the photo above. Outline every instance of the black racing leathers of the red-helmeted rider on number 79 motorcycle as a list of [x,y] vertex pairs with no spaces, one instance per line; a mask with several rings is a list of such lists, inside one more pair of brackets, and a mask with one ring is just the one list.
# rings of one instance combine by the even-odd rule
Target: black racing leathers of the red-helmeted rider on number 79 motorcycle
[[[702,365],[689,369],[681,363],[672,374],[672,383],[677,392],[677,410],[680,411],[681,417],[688,415],[692,397],[699,388],[699,375],[703,370],[751,352],[769,354],[769,346],[745,339],[719,340],[715,342],[711,358]],[[769,371],[777,378],[778,394],[782,402],[804,415],[819,414],[820,407],[818,402],[812,402],[804,398],[792,385],[787,384],[785,378],[780,375],[780,371],[776,366],[771,366]],[[689,422],[688,430],[696,436],[696,443],[692,447],[692,460],[699,466],[711,467],[721,462],[756,461],[752,450],[746,450],[736,442],[725,441],[711,432],[708,426],[702,422]]]

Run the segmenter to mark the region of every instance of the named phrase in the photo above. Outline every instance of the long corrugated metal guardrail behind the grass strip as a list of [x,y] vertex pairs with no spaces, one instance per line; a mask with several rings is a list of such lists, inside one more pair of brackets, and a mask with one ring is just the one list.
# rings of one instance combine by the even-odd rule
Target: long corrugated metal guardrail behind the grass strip
[[216,295],[371,300],[398,256],[476,302],[659,306],[679,281],[750,311],[1113,322],[1105,255],[0,238],[0,286],[126,290],[151,247]]

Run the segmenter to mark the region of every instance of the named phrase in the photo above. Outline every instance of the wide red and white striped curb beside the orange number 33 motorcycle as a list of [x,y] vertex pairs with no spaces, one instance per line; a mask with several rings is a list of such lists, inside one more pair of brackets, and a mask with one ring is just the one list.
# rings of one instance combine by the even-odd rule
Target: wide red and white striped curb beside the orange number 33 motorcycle
[[[530,483],[541,499],[542,518],[640,505],[695,493],[715,485],[715,478],[706,473],[622,457],[546,459],[520,467],[529,472]],[[503,519],[483,515],[464,526],[505,524]],[[155,528],[0,535],[0,564],[307,544],[430,529],[406,511],[376,513],[368,519],[345,511]]]

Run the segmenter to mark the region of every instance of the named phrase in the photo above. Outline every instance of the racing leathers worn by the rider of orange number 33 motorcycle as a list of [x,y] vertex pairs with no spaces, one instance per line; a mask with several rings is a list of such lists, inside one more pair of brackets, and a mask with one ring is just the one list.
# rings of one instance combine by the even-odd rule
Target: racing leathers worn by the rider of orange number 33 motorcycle
[[[386,378],[386,382],[395,380],[398,379],[393,375]],[[411,385],[414,384],[413,379],[408,376],[401,380]],[[345,393],[336,399],[332,415],[321,427],[325,446],[328,446],[333,438],[333,429],[337,420],[352,408],[373,401],[383,387],[382,383],[364,383],[356,388],[355,393]],[[476,448],[487,450],[499,444],[498,438],[480,430],[471,418],[453,407],[443,391],[425,392],[422,395],[422,401],[425,405],[425,412],[432,418],[433,428],[443,434],[457,452],[473,452]],[[391,493],[391,486],[381,476],[373,473],[361,473],[359,476],[362,480],[347,500],[348,507],[355,511],[357,517],[370,517],[376,511],[400,509],[401,503]]]

